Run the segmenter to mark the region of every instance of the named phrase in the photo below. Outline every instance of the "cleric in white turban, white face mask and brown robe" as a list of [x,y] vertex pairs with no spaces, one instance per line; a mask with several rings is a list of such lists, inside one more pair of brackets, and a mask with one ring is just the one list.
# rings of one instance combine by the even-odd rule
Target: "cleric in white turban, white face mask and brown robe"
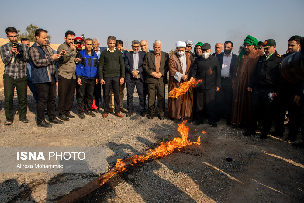
[[[169,86],[168,92],[174,87],[178,88],[182,82],[189,80],[189,72],[193,65],[193,57],[185,52],[186,43],[175,43],[177,52],[169,58]],[[168,117],[179,122],[183,117],[192,120],[193,110],[193,91],[192,87],[188,91],[178,96],[178,98],[168,97]]]

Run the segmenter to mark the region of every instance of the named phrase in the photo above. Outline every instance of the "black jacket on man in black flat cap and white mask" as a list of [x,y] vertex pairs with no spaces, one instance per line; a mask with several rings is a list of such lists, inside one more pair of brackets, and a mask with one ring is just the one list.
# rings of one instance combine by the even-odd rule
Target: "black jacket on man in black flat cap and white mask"
[[195,86],[197,89],[215,90],[216,87],[221,87],[221,67],[219,60],[212,55],[207,59],[202,56],[195,58],[189,76],[203,80]]

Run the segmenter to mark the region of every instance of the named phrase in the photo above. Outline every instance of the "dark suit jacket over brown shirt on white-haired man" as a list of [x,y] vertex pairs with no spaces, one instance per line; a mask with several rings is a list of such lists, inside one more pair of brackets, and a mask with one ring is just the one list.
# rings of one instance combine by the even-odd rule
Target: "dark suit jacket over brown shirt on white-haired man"
[[149,84],[154,84],[159,82],[160,85],[165,85],[168,83],[167,72],[169,70],[169,54],[161,51],[161,64],[159,67],[159,72],[161,73],[161,78],[157,79],[151,76],[152,72],[156,72],[155,68],[155,57],[154,51],[150,51],[146,54],[145,60],[143,61],[143,68],[146,71],[146,82]]

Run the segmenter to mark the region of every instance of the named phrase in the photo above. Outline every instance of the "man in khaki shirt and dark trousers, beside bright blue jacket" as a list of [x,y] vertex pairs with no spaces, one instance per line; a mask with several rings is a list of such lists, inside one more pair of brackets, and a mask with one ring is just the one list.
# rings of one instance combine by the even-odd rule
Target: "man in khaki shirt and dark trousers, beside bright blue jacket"
[[65,42],[58,47],[57,53],[64,50],[63,55],[58,62],[58,112],[59,118],[63,121],[75,118],[70,111],[74,102],[76,89],[76,64],[80,59],[76,58],[77,44],[73,44],[75,33],[71,30],[66,31]]

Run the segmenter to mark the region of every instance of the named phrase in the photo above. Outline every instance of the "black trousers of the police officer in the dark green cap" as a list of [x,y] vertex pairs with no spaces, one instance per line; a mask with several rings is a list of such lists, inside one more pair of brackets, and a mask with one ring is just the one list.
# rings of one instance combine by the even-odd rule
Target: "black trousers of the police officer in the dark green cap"
[[264,118],[264,125],[261,131],[263,135],[267,135],[269,133],[272,123],[271,113],[273,100],[268,98],[269,92],[272,91],[262,90],[257,87],[254,87],[252,94],[249,130],[255,131],[257,129],[257,121],[262,116]]

